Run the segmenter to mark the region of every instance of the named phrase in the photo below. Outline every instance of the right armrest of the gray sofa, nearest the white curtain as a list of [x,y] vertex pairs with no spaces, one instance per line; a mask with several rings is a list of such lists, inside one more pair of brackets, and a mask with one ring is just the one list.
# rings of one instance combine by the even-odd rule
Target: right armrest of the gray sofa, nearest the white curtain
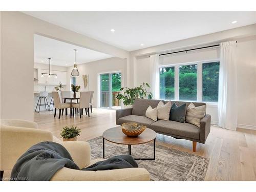
[[205,115],[200,121],[200,143],[205,143],[207,136],[210,133],[210,115]]

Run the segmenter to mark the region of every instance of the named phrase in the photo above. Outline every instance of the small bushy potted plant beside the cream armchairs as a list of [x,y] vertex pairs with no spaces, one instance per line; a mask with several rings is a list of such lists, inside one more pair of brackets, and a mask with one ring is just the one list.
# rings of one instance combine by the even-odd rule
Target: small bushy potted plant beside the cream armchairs
[[71,127],[65,126],[62,127],[60,136],[63,138],[63,141],[76,141],[77,136],[81,133],[81,129],[77,128],[77,126],[72,125]]

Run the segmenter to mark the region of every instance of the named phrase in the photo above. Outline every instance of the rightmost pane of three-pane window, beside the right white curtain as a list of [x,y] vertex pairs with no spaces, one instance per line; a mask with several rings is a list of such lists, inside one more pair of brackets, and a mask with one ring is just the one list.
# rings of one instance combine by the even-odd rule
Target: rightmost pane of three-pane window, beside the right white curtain
[[203,63],[203,101],[218,102],[220,62]]

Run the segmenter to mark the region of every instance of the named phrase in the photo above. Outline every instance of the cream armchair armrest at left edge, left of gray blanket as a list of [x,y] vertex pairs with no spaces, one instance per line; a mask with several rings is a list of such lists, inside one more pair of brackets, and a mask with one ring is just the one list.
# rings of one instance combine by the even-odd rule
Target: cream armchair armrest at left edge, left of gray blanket
[[52,141],[49,131],[17,126],[0,127],[0,169],[10,170],[18,158],[32,145],[42,141]]

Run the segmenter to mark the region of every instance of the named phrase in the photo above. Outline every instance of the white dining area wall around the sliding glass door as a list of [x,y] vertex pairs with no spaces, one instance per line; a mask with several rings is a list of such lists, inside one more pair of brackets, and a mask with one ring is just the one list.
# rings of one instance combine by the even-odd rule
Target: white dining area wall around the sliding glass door
[[[73,67],[70,67],[68,70],[68,82],[70,82],[71,72]],[[112,57],[108,59],[97,60],[93,62],[83,63],[77,65],[77,69],[80,73],[78,77],[76,77],[76,84],[81,86],[80,91],[94,91],[93,95],[93,107],[98,108],[98,76],[100,73],[108,73],[108,72],[121,72],[121,83],[122,86],[126,86],[126,59],[121,59],[118,57]],[[87,89],[84,89],[82,75],[89,75],[89,85]],[[67,83],[67,89],[71,85]]]

